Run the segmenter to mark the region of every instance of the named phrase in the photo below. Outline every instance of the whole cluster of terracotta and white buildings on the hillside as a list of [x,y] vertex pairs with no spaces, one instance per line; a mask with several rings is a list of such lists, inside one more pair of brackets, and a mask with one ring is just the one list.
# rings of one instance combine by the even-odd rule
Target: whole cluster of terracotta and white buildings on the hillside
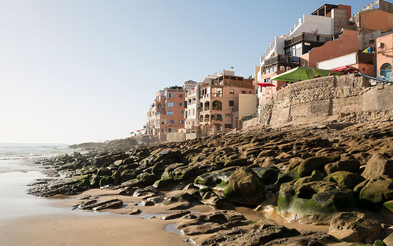
[[[324,4],[304,14],[288,33],[272,37],[247,78],[235,75],[231,67],[199,82],[189,80],[158,91],[146,115],[145,133],[151,139],[180,141],[241,129],[250,125],[248,120],[266,115],[266,104],[277,92],[303,83],[300,76],[282,77],[296,69],[312,68],[318,78],[331,75],[328,70],[351,66],[366,78],[391,82],[393,3],[376,0],[353,16],[351,11],[349,5]],[[362,87],[369,82],[376,84],[367,79]]]

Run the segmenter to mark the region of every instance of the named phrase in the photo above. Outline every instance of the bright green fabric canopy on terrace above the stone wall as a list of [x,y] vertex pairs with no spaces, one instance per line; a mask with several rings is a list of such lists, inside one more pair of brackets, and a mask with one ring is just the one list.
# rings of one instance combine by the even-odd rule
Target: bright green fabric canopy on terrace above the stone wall
[[[281,73],[277,76],[270,78],[271,80],[294,82],[297,80],[303,81],[313,79],[316,76],[326,77],[331,71],[325,69],[318,69],[312,67],[298,66],[289,71]],[[339,72],[332,72],[333,75],[341,75]]]

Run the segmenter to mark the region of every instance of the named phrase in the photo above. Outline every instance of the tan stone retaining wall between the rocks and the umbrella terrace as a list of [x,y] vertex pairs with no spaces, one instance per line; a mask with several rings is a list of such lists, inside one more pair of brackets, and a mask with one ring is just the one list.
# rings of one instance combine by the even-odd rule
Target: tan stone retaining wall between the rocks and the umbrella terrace
[[370,87],[368,79],[357,74],[329,76],[288,85],[263,102],[259,117],[243,127],[280,127],[330,116],[393,120],[392,109],[393,85]]

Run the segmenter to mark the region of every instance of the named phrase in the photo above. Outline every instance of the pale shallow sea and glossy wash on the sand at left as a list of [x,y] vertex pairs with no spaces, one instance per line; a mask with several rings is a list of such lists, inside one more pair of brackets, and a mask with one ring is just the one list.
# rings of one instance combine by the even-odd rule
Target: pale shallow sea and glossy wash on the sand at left
[[0,225],[10,219],[34,214],[55,213],[55,200],[26,194],[27,184],[48,178],[39,172],[39,158],[70,154],[66,144],[0,143]]

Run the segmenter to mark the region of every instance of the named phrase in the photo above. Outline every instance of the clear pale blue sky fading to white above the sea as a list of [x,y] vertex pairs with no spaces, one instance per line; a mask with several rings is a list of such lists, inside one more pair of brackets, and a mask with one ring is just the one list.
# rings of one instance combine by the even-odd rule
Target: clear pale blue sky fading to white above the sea
[[231,66],[248,78],[303,14],[370,2],[0,0],[0,142],[128,137],[158,90]]

